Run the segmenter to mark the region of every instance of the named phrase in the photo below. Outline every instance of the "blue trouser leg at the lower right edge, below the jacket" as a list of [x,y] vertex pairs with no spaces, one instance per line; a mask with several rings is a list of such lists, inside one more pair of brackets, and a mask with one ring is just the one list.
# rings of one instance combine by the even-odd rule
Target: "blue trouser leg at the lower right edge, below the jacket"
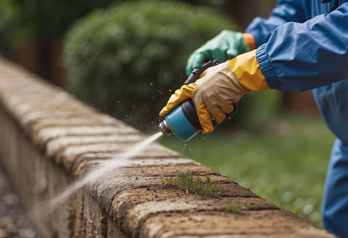
[[348,146],[336,139],[327,170],[322,204],[325,229],[348,237]]

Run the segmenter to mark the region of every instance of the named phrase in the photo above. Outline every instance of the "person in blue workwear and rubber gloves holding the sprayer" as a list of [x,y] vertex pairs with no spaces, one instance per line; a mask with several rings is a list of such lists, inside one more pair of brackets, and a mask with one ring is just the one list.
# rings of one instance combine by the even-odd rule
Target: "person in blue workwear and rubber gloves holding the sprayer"
[[187,74],[215,59],[223,63],[176,90],[160,116],[191,98],[208,134],[213,130],[211,116],[221,122],[246,93],[312,90],[336,136],[323,223],[335,235],[348,237],[348,0],[278,0],[269,18],[256,17],[245,33],[222,31],[194,51]]

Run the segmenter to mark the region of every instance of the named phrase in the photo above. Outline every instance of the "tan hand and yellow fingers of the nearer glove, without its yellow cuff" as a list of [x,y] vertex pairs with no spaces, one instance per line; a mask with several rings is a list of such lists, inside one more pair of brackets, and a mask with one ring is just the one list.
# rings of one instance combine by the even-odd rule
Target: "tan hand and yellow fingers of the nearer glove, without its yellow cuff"
[[232,103],[238,102],[247,91],[233,76],[229,61],[208,68],[195,83],[183,85],[169,98],[169,101],[159,113],[165,116],[183,101],[191,98],[195,104],[203,134],[213,130],[211,116],[217,123],[225,117],[225,113],[233,111]]

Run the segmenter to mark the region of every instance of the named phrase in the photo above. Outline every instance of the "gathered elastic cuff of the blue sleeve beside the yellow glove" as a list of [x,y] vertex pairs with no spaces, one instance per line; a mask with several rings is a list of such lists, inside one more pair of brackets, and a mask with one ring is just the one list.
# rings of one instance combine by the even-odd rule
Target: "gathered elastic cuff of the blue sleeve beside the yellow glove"
[[274,71],[271,61],[267,56],[266,46],[267,43],[261,45],[258,49],[256,49],[256,59],[259,62],[260,69],[269,87],[272,89],[280,90],[280,82],[276,75],[276,72]]

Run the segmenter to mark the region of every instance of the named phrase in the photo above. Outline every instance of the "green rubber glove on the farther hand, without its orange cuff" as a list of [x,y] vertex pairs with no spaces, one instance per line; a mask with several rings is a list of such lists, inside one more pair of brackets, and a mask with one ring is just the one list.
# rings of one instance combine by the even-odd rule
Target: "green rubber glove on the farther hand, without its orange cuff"
[[248,51],[241,32],[224,30],[191,54],[186,64],[186,74],[189,76],[193,69],[206,61],[219,60],[222,63]]

